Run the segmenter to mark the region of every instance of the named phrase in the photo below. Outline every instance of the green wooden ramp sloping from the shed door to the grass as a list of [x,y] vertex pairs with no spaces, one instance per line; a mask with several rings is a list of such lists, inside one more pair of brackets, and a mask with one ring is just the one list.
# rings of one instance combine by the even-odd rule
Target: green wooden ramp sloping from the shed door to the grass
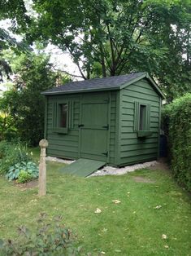
[[97,161],[80,158],[68,166],[59,169],[63,174],[72,174],[80,177],[87,177],[100,167],[105,166],[105,161]]

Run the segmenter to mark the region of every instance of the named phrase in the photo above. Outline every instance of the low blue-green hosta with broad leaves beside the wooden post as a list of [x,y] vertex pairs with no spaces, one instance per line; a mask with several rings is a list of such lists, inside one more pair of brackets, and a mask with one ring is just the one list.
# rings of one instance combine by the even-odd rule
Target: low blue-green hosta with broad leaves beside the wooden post
[[38,172],[38,167],[34,162],[21,161],[20,163],[17,163],[9,168],[6,178],[9,180],[20,179],[20,181],[24,180],[24,177],[26,179],[35,179],[38,177]]

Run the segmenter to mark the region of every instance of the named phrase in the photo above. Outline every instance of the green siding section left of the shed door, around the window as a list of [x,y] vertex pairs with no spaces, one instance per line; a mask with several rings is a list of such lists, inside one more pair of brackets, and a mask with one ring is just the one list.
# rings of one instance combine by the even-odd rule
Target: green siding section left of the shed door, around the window
[[[68,159],[78,158],[78,141],[79,141],[79,118],[80,118],[80,97],[77,96],[62,96],[55,95],[47,97],[47,135],[46,138],[49,142],[47,150],[48,156],[62,157]],[[70,100],[71,110],[70,114],[70,126],[67,134],[58,134],[53,131],[54,121],[54,103],[58,100]]]

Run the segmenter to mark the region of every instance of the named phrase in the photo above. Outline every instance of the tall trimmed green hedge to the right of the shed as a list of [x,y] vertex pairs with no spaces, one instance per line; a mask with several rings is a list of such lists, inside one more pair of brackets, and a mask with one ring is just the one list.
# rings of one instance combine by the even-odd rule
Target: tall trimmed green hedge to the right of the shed
[[168,137],[171,170],[178,183],[191,191],[191,94],[165,106],[162,120]]

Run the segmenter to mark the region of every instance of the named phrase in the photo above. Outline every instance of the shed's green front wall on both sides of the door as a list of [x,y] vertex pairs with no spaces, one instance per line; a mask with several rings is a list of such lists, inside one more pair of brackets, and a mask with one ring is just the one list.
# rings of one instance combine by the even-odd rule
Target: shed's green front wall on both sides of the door
[[[116,95],[117,91],[107,92],[108,94],[108,121],[110,129],[108,130],[108,159],[107,162],[111,165],[115,165],[115,134],[118,123],[116,122]],[[85,98],[89,99],[98,98],[103,92],[99,93],[85,93]],[[54,123],[54,104],[59,100],[69,100],[72,104],[72,128],[68,130],[67,134],[58,134],[53,130]],[[47,149],[48,156],[51,157],[63,157],[68,159],[77,159],[80,157],[79,152],[79,137],[80,129],[80,103],[83,100],[82,94],[73,95],[51,95],[46,97],[46,127],[45,137],[49,141],[49,147]]]

